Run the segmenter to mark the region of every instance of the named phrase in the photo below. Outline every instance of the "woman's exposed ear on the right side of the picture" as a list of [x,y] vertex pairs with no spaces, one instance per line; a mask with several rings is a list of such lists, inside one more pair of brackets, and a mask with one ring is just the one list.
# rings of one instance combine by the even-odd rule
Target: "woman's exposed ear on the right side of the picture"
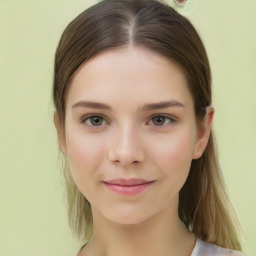
[[214,115],[213,107],[206,108],[206,114],[204,119],[199,124],[197,131],[195,147],[193,151],[193,159],[198,159],[202,156],[211,133],[212,120]]

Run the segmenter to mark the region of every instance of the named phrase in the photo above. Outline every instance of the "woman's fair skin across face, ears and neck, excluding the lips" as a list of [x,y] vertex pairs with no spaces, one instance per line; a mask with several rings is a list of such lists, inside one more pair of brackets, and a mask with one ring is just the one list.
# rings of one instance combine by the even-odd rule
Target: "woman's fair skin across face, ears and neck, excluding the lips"
[[[179,219],[179,191],[207,145],[213,108],[198,124],[182,70],[141,47],[90,59],[65,100],[65,129],[55,115],[60,148],[93,214],[93,235],[78,256],[191,255],[195,237]],[[120,195],[103,183],[114,178],[153,183]]]

